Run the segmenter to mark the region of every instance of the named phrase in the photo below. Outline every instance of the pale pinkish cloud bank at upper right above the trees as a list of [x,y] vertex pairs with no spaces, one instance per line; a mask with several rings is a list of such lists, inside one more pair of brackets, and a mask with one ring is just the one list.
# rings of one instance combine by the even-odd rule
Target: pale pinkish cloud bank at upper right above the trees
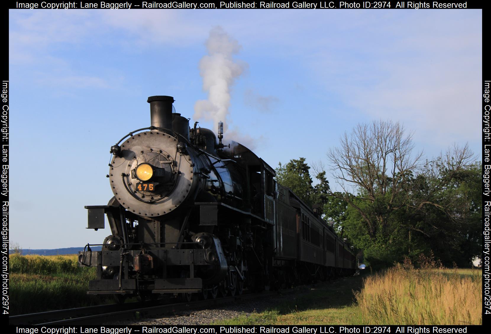
[[477,141],[482,22],[475,13],[460,14],[439,11],[359,27],[355,40],[313,53],[312,72],[347,106],[403,121],[417,129],[420,142]]

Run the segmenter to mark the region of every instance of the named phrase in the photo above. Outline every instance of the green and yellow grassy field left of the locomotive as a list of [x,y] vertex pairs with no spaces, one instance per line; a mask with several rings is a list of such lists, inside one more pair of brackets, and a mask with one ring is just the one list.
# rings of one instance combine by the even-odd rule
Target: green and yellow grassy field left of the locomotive
[[12,254],[10,315],[100,304],[86,295],[95,268],[79,267],[76,255]]

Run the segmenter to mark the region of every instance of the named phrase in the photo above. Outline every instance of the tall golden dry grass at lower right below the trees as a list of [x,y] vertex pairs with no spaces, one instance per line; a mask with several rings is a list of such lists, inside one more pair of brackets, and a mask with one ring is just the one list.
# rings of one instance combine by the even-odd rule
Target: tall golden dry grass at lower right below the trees
[[423,258],[415,269],[407,259],[364,283],[355,297],[367,324],[482,324],[478,272],[443,269],[431,258]]

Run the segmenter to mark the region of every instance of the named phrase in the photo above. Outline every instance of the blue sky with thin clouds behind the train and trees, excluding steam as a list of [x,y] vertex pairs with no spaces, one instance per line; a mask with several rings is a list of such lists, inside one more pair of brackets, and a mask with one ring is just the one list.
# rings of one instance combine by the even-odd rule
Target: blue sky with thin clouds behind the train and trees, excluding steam
[[245,68],[230,132],[273,167],[327,165],[340,135],[378,119],[425,156],[468,142],[480,157],[482,10],[10,10],[11,242],[104,240],[83,206],[112,197],[110,146],[150,125],[148,96],[193,117],[216,26]]

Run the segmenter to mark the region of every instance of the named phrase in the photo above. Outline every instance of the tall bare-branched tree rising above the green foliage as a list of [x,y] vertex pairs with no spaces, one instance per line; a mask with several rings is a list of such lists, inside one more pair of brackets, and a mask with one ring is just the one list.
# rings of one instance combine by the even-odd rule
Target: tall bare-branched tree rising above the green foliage
[[[370,238],[379,229],[385,230],[390,213],[405,205],[401,194],[407,187],[407,178],[418,168],[422,153],[411,156],[414,144],[404,127],[391,121],[358,124],[345,133],[340,146],[329,150],[327,157],[333,168],[333,177],[343,188],[334,193],[358,211]],[[369,202],[362,209],[357,200]]]

